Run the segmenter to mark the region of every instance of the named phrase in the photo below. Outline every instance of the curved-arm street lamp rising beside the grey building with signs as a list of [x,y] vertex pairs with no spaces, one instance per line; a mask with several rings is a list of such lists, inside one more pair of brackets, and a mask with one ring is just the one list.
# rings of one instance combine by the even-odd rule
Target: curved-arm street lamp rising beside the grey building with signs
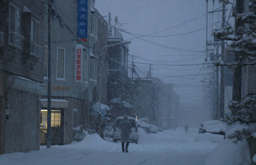
[[100,135],[100,132],[101,132],[101,128],[100,128],[100,125],[101,125],[101,121],[100,121],[100,118],[101,118],[101,114],[100,114],[100,111],[101,111],[101,76],[102,76],[102,49],[105,49],[106,47],[112,47],[112,46],[115,46],[115,45],[127,45],[127,44],[130,44],[131,41],[127,40],[127,41],[122,41],[122,42],[118,42],[118,43],[113,43],[113,44],[110,44],[110,45],[106,45],[104,46],[103,48],[101,47],[100,48],[100,89],[99,89],[99,135]]

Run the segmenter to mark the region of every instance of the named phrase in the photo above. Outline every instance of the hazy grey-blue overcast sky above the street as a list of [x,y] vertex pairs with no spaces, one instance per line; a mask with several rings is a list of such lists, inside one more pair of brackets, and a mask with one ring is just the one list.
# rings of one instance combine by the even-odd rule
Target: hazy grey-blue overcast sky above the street
[[[141,77],[147,75],[151,63],[152,76],[173,84],[184,110],[209,109],[206,83],[200,82],[209,79],[211,72],[207,63],[202,67],[206,58],[205,0],[95,0],[95,8],[106,20],[111,13],[112,25],[118,17],[116,27],[127,32],[122,32],[124,40],[132,41],[129,61],[133,55]],[[209,1],[208,11],[212,10],[221,10],[219,1]],[[221,13],[209,14],[208,20],[211,38],[211,29],[221,26]],[[140,35],[143,37],[138,38]]]

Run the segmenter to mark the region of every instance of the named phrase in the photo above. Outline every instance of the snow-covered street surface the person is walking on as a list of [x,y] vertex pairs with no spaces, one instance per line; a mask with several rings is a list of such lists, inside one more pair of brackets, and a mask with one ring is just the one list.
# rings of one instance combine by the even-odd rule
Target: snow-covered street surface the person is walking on
[[204,164],[218,145],[221,136],[198,134],[198,128],[164,130],[146,134],[138,130],[139,143],[130,143],[129,153],[122,153],[121,143],[106,141],[97,134],[87,135],[81,142],[70,145],[41,146],[29,153],[0,155],[0,164]]

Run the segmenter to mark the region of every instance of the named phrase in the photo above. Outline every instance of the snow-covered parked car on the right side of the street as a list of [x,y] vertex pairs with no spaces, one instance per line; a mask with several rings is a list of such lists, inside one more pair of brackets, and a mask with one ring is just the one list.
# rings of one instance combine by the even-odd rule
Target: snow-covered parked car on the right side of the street
[[199,134],[209,132],[211,134],[221,134],[225,136],[226,129],[227,123],[221,122],[220,120],[208,120],[201,123]]

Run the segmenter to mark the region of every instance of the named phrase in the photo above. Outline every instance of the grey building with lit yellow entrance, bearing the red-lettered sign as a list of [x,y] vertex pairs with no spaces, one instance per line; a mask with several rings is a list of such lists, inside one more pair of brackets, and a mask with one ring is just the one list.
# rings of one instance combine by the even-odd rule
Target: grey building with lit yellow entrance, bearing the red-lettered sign
[[[84,7],[80,10],[82,4]],[[107,65],[105,58],[100,57],[100,50],[107,43],[108,25],[95,9],[93,0],[55,1],[54,7],[59,21],[51,24],[51,116],[52,121],[56,121],[51,124],[51,141],[52,145],[65,145],[72,142],[80,125],[89,127],[90,108],[99,101],[99,89],[103,91],[102,100],[106,102]],[[84,15],[87,15],[88,19]],[[79,22],[81,17],[85,22]],[[66,25],[63,29],[60,18]],[[47,13],[45,13],[45,20],[47,20]],[[79,40],[77,36],[81,31],[77,29],[80,24],[87,24],[87,38],[82,36],[83,38]],[[47,77],[47,31],[45,21],[44,84],[46,87],[41,99],[44,104],[41,108],[42,144],[45,144],[45,134],[47,134],[47,81],[49,79]],[[100,65],[102,65],[103,74],[100,74]],[[102,88],[99,88],[100,75],[102,75]]]

